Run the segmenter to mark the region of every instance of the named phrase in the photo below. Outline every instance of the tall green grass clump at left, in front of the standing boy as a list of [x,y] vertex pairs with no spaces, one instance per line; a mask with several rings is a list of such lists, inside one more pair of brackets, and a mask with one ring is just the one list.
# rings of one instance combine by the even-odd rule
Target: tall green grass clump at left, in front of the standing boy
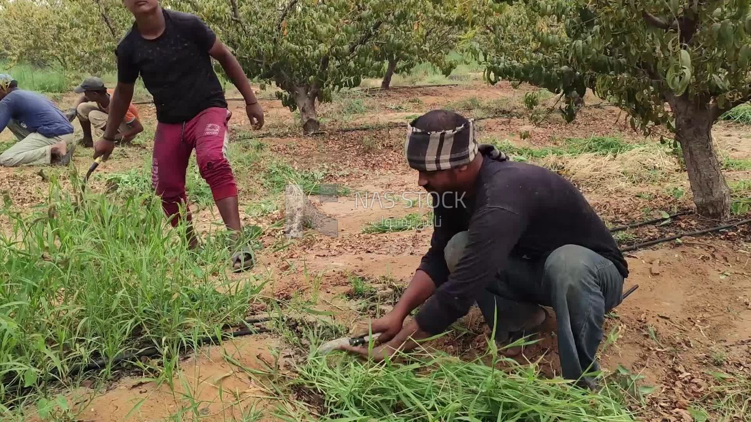
[[52,186],[31,215],[8,200],[0,209],[11,223],[0,233],[0,413],[74,383],[82,363],[146,347],[167,376],[182,347],[243,321],[259,288],[225,275],[227,236],[189,252],[158,201],[96,195],[76,207]]

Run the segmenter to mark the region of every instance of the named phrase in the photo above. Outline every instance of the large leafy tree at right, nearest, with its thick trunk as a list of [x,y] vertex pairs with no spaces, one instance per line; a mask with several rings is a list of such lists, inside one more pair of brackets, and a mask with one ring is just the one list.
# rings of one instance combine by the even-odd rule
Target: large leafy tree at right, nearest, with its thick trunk
[[[508,3],[513,3],[509,5]],[[730,194],[712,125],[751,100],[749,0],[490,0],[486,76],[583,96],[674,131],[699,214],[725,219]],[[575,117],[572,101],[566,115]]]

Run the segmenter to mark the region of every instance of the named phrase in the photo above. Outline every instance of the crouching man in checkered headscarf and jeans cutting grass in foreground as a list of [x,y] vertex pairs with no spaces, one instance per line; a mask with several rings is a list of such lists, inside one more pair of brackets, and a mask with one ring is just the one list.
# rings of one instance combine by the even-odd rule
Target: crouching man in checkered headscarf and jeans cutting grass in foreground
[[581,192],[555,172],[478,145],[472,122],[454,112],[412,121],[405,151],[433,196],[435,228],[397,306],[371,322],[382,333],[372,358],[414,349],[415,340],[441,334],[475,303],[505,346],[534,334],[546,306],[556,313],[562,375],[593,387],[584,374],[599,370],[605,313],[620,304],[629,271]]

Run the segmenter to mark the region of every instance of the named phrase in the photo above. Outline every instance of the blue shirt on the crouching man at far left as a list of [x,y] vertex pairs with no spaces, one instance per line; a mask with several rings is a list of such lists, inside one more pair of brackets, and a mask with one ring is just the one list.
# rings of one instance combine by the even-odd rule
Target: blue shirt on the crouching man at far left
[[0,132],[12,119],[48,138],[73,133],[73,125],[44,95],[16,89],[0,101]]

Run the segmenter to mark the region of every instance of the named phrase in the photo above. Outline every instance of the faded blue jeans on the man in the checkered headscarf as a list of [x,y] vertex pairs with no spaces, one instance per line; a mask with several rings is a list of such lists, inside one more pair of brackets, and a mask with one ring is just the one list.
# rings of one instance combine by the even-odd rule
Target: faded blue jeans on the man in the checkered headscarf
[[[446,245],[450,271],[466,241],[467,232],[460,232]],[[490,328],[495,326],[496,340],[523,328],[540,305],[552,307],[563,377],[592,385],[593,380],[582,375],[599,370],[596,353],[605,313],[617,307],[623,295],[623,276],[613,262],[575,244],[553,250],[546,259],[509,257],[496,278],[488,280],[486,292],[477,304]]]

